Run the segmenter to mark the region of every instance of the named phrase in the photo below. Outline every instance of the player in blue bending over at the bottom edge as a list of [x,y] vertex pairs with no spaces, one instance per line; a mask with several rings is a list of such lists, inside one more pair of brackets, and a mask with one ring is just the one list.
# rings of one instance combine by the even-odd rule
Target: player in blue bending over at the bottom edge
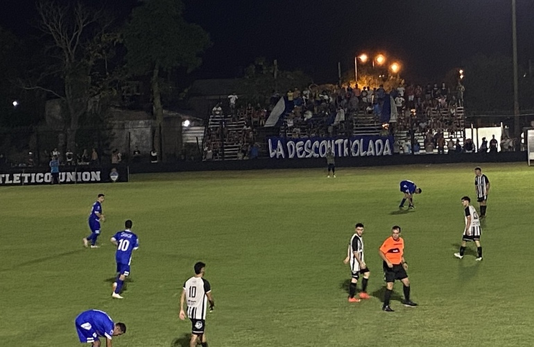
[[84,311],[78,314],[74,323],[80,342],[92,344],[92,347],[101,346],[98,337],[105,337],[105,346],[112,347],[112,338],[126,333],[124,323],[113,323],[111,317],[100,310]]

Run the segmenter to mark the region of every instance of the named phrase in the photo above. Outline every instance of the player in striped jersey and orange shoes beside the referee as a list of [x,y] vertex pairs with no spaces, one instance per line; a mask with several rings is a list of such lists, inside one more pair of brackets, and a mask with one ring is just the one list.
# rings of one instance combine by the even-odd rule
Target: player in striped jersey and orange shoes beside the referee
[[367,264],[363,261],[363,224],[357,223],[354,226],[354,235],[350,238],[348,254],[343,263],[350,263],[350,271],[352,273],[352,278],[349,285],[349,303],[358,303],[359,298],[354,298],[356,294],[356,283],[360,278],[360,273],[363,275],[363,280],[361,280],[361,292],[359,297],[362,299],[370,298],[367,294],[367,282],[369,280],[369,269]]

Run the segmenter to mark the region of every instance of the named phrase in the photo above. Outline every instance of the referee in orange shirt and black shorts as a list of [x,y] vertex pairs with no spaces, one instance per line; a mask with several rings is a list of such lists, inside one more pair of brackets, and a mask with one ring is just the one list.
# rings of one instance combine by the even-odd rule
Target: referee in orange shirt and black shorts
[[400,280],[404,285],[404,301],[406,307],[415,307],[416,303],[410,300],[410,280],[408,280],[408,263],[404,260],[404,239],[400,237],[401,228],[393,226],[391,236],[384,241],[379,248],[379,255],[384,260],[384,279],[386,280],[386,294],[384,294],[384,305],[382,310],[393,312],[389,302],[393,293],[395,280]]

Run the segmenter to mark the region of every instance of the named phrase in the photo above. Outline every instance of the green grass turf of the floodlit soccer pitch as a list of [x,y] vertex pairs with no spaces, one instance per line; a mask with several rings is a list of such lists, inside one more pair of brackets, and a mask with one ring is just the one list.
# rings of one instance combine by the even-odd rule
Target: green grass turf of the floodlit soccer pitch
[[[188,346],[178,319],[184,280],[207,263],[216,310],[210,346],[533,346],[534,171],[483,164],[491,182],[483,262],[458,251],[460,198],[474,198],[474,164],[205,172],[132,176],[130,183],[0,188],[0,346],[81,346],[79,312],[98,308],[128,332],[114,346]],[[399,212],[399,181],[423,189]],[[87,215],[104,192],[99,241],[85,249]],[[112,300],[109,239],[132,219],[135,251],[123,301]],[[354,223],[365,224],[372,298],[347,303],[343,264]],[[402,226],[413,301],[381,311],[377,253]],[[359,285],[360,287],[360,285]],[[115,340],[115,339],[114,339]]]

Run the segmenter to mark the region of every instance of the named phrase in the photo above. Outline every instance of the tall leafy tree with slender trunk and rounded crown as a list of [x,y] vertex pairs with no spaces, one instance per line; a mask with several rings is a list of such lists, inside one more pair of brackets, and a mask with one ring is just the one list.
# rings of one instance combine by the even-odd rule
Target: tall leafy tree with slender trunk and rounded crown
[[156,119],[154,148],[160,157],[163,123],[162,81],[160,74],[182,67],[187,72],[200,66],[200,53],[211,42],[203,28],[182,17],[180,0],[144,0],[132,11],[123,35],[129,71],[151,76],[153,115]]

